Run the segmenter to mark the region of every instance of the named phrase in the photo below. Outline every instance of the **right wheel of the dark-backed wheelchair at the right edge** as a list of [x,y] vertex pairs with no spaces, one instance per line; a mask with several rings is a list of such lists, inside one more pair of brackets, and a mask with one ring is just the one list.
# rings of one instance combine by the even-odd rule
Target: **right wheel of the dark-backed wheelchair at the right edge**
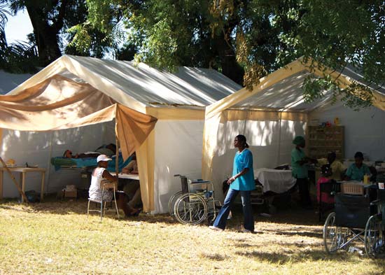
[[381,214],[373,215],[367,220],[365,227],[365,251],[369,257],[376,257],[384,245],[381,230]]

